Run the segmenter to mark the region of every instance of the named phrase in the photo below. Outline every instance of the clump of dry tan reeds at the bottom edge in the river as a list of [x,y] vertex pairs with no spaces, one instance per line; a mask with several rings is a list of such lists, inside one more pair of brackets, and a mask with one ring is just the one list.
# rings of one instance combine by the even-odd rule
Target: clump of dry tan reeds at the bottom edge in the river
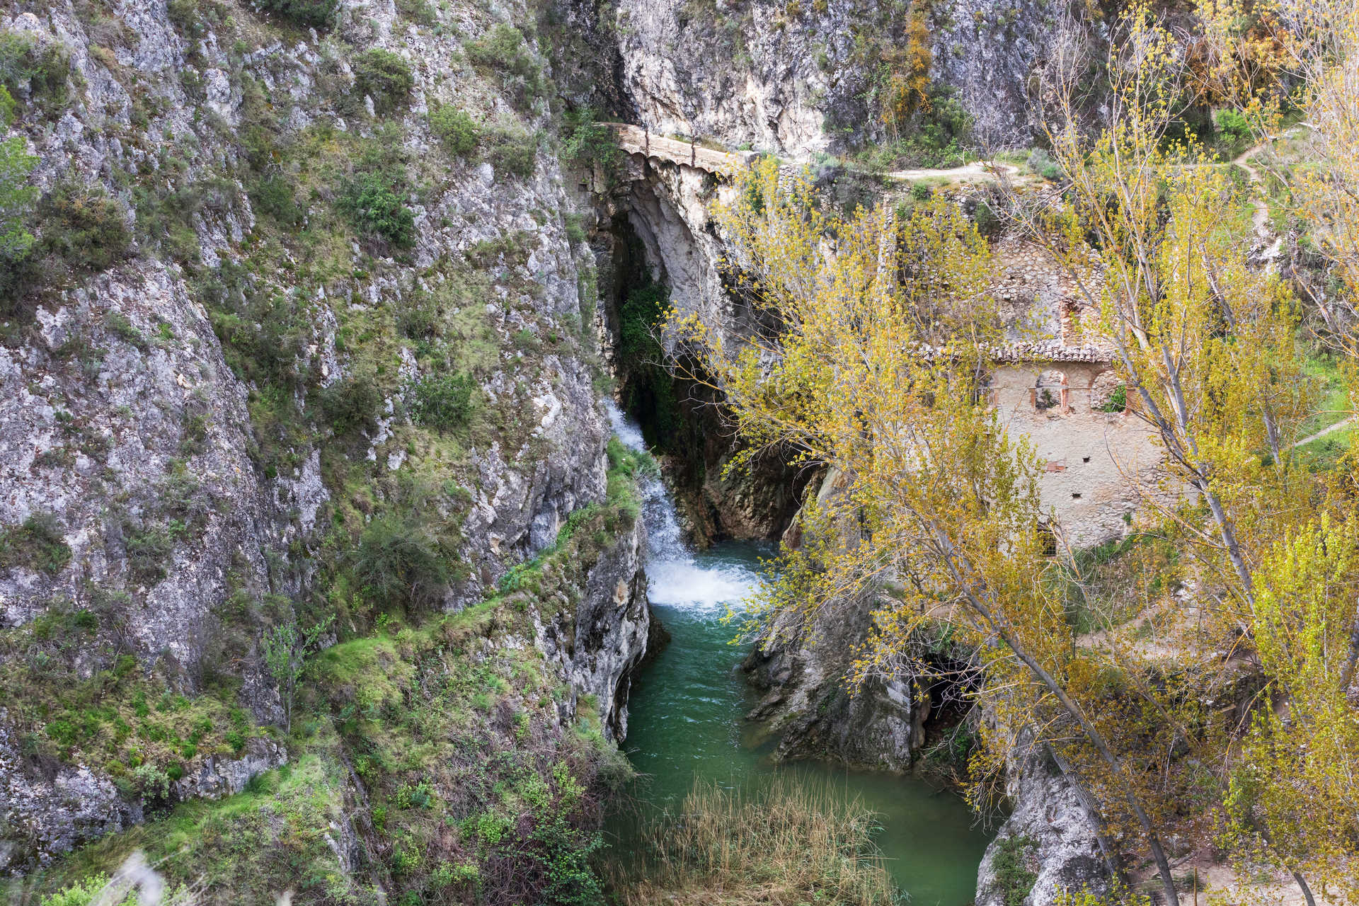
[[696,781],[677,814],[647,822],[633,863],[616,865],[618,902],[832,902],[887,906],[900,891],[874,844],[878,820],[828,785],[779,777],[746,791]]

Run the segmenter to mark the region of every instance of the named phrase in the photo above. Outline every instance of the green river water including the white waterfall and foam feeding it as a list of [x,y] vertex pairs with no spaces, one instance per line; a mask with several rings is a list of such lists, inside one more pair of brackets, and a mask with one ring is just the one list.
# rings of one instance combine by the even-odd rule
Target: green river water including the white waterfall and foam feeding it
[[[624,443],[640,446],[632,425],[616,417],[614,428]],[[878,812],[877,842],[912,903],[968,906],[988,835],[955,793],[916,777],[771,762],[768,746],[756,740],[758,728],[745,720],[757,701],[739,670],[747,648],[733,645],[734,629],[722,622],[727,603],[739,602],[756,581],[760,556],[771,551],[724,542],[690,553],[659,482],[646,496],[648,596],[670,644],[643,670],[629,706],[624,748],[644,777],[639,796],[674,807],[694,778],[739,786],[776,772],[828,784]]]

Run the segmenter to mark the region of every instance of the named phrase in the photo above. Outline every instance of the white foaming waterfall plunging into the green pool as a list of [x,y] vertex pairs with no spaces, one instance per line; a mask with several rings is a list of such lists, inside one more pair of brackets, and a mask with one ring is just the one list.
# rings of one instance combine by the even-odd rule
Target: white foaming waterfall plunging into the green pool
[[[606,401],[605,406],[609,424],[622,446],[646,452],[641,429],[612,401]],[[674,503],[660,478],[643,478],[637,490],[641,494],[641,518],[647,524],[647,598],[652,604],[724,613],[754,591],[760,579],[743,564],[700,562],[684,541]]]

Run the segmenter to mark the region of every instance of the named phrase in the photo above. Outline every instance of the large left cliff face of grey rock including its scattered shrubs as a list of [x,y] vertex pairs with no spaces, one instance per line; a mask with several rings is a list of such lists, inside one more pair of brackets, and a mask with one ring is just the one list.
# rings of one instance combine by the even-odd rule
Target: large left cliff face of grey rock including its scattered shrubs
[[[264,5],[0,16],[39,194],[0,312],[7,871],[285,762],[272,628],[455,611],[609,505],[531,18]],[[618,531],[554,623],[612,732],[650,619]]]

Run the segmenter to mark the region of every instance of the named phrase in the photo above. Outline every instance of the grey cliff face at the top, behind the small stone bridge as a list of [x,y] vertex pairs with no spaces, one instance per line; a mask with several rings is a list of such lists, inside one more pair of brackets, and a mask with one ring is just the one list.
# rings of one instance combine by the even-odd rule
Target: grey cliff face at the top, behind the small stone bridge
[[981,143],[1029,145],[1027,81],[1057,12],[1044,0],[625,0],[601,15],[640,125],[807,159],[890,137],[881,102],[913,68]]

